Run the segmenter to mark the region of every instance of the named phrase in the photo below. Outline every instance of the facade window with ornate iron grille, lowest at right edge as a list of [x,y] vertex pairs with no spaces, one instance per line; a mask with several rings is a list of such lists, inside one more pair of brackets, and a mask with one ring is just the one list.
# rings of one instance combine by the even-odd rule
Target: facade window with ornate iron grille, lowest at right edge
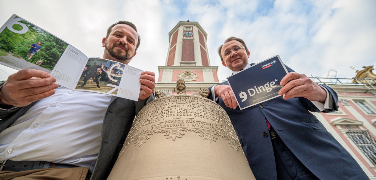
[[371,137],[370,133],[367,130],[349,130],[346,134],[376,166],[376,141]]

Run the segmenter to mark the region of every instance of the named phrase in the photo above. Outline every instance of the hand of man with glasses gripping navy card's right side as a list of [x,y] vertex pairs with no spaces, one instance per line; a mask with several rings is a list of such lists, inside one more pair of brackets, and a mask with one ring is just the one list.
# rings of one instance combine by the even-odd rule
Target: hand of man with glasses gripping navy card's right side
[[279,84],[283,87],[278,94],[283,95],[284,99],[303,97],[310,101],[325,102],[326,91],[304,74],[290,72]]

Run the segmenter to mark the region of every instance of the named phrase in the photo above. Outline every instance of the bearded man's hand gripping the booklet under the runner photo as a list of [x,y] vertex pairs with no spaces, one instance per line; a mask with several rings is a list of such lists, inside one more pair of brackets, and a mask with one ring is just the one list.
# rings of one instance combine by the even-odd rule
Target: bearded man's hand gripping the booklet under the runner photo
[[[32,79],[33,78],[33,79]],[[24,69],[12,74],[0,90],[0,105],[24,107],[55,93],[56,79],[49,73],[36,69]]]

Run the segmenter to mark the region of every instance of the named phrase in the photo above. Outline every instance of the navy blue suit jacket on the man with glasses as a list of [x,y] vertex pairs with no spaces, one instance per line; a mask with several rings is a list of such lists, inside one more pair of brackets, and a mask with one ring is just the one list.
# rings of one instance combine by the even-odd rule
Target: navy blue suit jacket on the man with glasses
[[[294,72],[287,66],[286,68],[289,72]],[[227,81],[220,84],[228,85]],[[332,110],[325,111],[336,111],[337,93],[328,86],[324,87],[329,92],[332,107]],[[209,99],[213,99],[212,97],[212,94],[208,96]],[[309,113],[320,111],[308,99],[285,100],[280,96],[244,110],[240,110],[239,107],[235,110],[227,108],[221,98],[217,103],[229,115],[257,180],[277,179],[271,139],[262,134],[268,133],[265,118],[294,155],[321,180],[369,179],[355,159],[323,124]]]

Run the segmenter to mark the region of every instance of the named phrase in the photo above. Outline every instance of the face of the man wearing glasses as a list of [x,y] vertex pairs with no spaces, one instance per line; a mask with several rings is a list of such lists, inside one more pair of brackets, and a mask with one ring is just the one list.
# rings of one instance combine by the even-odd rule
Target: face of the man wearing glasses
[[[229,68],[231,71],[240,71],[244,69],[244,67],[248,64],[248,57],[249,57],[249,51],[246,51],[244,47],[242,46],[242,49],[239,52],[235,52],[232,49],[235,46],[242,45],[237,40],[231,40],[229,42],[224,43],[221,49],[221,55],[223,57],[222,65]],[[223,56],[223,53],[226,50],[231,49],[230,55],[227,55],[226,57]]]

